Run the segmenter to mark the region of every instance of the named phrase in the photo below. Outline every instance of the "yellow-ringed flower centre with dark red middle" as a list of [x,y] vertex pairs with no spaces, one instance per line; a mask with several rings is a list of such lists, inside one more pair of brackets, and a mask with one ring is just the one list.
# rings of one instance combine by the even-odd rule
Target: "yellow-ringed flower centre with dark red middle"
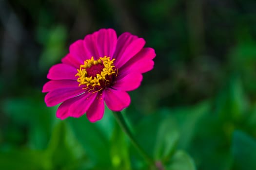
[[94,60],[94,57],[85,60],[75,75],[78,76],[79,86],[86,85],[85,89],[89,89],[89,92],[98,92],[112,85],[118,72],[114,61],[107,56],[99,57],[98,60]]

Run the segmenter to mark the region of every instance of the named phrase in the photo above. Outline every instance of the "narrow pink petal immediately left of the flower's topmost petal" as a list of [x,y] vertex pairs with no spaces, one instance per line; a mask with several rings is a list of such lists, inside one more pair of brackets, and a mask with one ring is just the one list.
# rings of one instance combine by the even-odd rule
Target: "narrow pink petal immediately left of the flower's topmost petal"
[[94,59],[98,59],[99,53],[97,48],[97,39],[98,32],[94,32],[93,34],[86,35],[84,37],[83,46],[86,49],[86,52],[90,58],[93,56]]

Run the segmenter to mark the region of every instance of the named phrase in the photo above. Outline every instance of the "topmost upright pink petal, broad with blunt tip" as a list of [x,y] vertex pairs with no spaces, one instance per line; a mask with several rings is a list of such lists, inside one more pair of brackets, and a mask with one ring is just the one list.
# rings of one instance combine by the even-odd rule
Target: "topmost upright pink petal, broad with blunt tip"
[[100,29],[97,38],[100,57],[112,57],[117,45],[117,34],[113,29]]

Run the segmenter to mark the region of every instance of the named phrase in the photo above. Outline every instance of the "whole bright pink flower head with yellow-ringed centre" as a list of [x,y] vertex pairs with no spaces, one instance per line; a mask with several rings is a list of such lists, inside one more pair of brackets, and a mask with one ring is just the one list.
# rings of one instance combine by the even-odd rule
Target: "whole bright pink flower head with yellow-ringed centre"
[[78,118],[86,113],[91,122],[103,117],[104,102],[121,111],[131,99],[126,91],[140,85],[142,73],[154,67],[154,49],[130,33],[117,38],[113,29],[100,29],[70,45],[61,64],[50,68],[42,89],[47,106],[59,103],[57,117]]

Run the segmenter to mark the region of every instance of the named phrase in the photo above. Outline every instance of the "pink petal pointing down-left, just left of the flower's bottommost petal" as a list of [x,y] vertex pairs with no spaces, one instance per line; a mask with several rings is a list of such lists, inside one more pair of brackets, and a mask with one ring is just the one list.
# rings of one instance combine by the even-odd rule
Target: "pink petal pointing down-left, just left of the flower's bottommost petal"
[[85,92],[84,94],[82,94],[82,96],[83,97],[81,99],[77,100],[70,106],[70,116],[79,118],[80,116],[85,114],[92,102],[95,100],[97,93],[92,94]]

